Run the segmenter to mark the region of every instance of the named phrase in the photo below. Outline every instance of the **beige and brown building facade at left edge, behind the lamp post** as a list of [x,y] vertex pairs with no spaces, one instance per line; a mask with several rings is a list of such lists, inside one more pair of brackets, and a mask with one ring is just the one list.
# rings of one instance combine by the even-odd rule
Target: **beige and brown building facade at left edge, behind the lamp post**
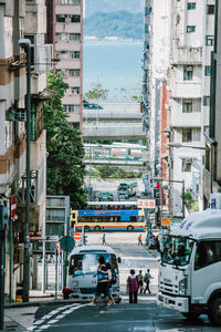
[[[31,204],[30,232],[41,231],[45,220],[45,131],[43,104],[45,74],[51,69],[52,46],[44,44],[46,11],[44,0],[8,0],[0,2],[0,195],[17,200],[17,219],[12,225],[12,276],[9,271],[7,237],[6,292],[12,280],[13,299],[23,280],[27,193],[27,55],[20,39],[31,41]],[[32,258],[31,258],[32,259]],[[34,287],[30,284],[30,287]]]

